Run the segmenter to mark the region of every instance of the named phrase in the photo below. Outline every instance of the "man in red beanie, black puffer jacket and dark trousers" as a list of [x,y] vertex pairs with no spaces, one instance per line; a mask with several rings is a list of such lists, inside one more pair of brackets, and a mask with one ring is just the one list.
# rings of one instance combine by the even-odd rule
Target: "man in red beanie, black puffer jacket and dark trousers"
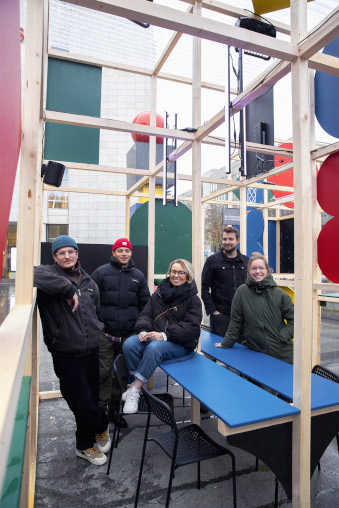
[[[132,244],[119,238],[113,245],[110,263],[92,273],[100,291],[100,321],[104,330],[100,341],[99,404],[115,422],[118,417],[120,389],[113,374],[113,361],[122,353],[125,339],[134,333],[134,325],[150,297],[144,274],[135,268]],[[127,427],[126,420],[120,423]]]

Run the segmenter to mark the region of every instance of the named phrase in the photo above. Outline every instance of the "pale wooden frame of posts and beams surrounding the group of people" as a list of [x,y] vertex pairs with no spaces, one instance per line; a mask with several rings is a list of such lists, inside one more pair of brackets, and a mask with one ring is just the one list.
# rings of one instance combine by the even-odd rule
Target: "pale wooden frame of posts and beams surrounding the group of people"
[[[228,16],[249,16],[248,11],[226,5],[217,0],[182,0],[188,4],[186,12],[161,6],[144,0],[65,0],[90,9],[99,10],[116,16],[126,17],[140,22],[150,23],[173,30],[175,33],[165,51],[152,70],[114,64],[99,58],[65,54],[49,50],[48,37],[48,0],[27,1],[26,24],[26,62],[24,79],[24,109],[22,123],[21,174],[18,218],[18,259],[16,278],[15,306],[0,328],[0,370],[2,372],[0,411],[0,479],[1,485],[6,468],[6,458],[10,443],[11,430],[15,417],[16,404],[22,376],[32,376],[30,398],[30,417],[26,440],[26,459],[22,506],[33,506],[35,483],[35,457],[37,439],[38,411],[38,366],[39,366],[39,326],[33,291],[33,265],[39,262],[41,216],[43,190],[49,187],[41,183],[40,167],[42,157],[42,139],[44,122],[56,122],[69,125],[81,125],[99,129],[123,132],[137,132],[150,135],[149,169],[126,169],[90,164],[75,164],[65,161],[72,170],[95,170],[111,173],[140,175],[142,178],[128,190],[104,191],[101,189],[60,188],[65,192],[105,193],[124,196],[126,210],[130,207],[131,196],[137,196],[139,189],[149,183],[148,218],[148,281],[154,279],[154,234],[155,234],[155,178],[161,175],[162,163],[155,163],[155,136],[171,137],[181,142],[171,154],[171,160],[178,159],[188,150],[192,150],[191,176],[179,175],[179,179],[192,181],[192,236],[193,265],[200,286],[200,274],[203,264],[204,204],[213,203],[217,196],[240,189],[241,240],[246,239],[246,187],[260,187],[263,175],[248,180],[232,181],[203,178],[201,176],[201,145],[223,146],[224,139],[212,138],[212,133],[225,119],[222,109],[205,125],[201,125],[201,90],[208,88],[223,91],[223,87],[201,80],[201,40],[207,39],[224,45],[247,48],[278,60],[264,73],[258,76],[239,96],[233,100],[231,114],[236,114],[252,100],[262,95],[287,73],[292,77],[293,110],[293,167],[295,196],[295,344],[294,344],[294,405],[301,410],[300,416],[293,421],[293,506],[310,506],[310,392],[312,364],[319,359],[318,336],[320,311],[319,290],[338,291],[339,285],[321,284],[317,265],[316,238],[320,230],[319,207],[316,202],[315,160],[326,157],[339,150],[339,142],[314,150],[314,111],[311,96],[310,70],[320,70],[339,76],[339,59],[319,53],[331,40],[339,35],[339,7],[331,12],[311,32],[307,33],[307,0],[291,0],[291,26],[275,23],[278,31],[290,35],[290,41],[268,39],[264,35],[248,32],[220,21],[203,16],[204,9],[213,10]],[[182,34],[193,38],[193,79],[166,74],[162,67],[168,59]],[[151,125],[142,126],[128,122],[93,118],[48,111],[46,104],[47,58],[68,59],[75,62],[108,67],[147,75],[151,78]],[[195,133],[163,129],[155,126],[157,80],[165,79],[192,86],[193,118]],[[255,152],[291,156],[291,152],[272,146],[247,143],[247,150]],[[265,178],[290,169],[286,164],[265,174]],[[202,182],[224,185],[220,191],[202,197]],[[269,189],[270,185],[265,185]],[[277,189],[277,187],[275,186]],[[285,190],[291,190],[286,189]],[[267,194],[267,193],[266,193]],[[143,194],[145,197],[145,194]],[[228,203],[228,201],[225,201]],[[218,203],[222,203],[218,201]],[[282,204],[280,200],[279,204]],[[234,202],[233,202],[234,204]],[[252,204],[253,205],[253,204]],[[258,205],[259,206],[259,205]],[[270,203],[260,205],[267,225],[267,210]],[[275,206],[275,205],[274,205]],[[126,235],[129,235],[129,221],[126,213]],[[265,235],[264,235],[265,238]],[[267,249],[267,237],[264,240]],[[266,252],[267,253],[267,252]],[[312,255],[311,255],[312,253]],[[152,284],[151,284],[152,283]]]

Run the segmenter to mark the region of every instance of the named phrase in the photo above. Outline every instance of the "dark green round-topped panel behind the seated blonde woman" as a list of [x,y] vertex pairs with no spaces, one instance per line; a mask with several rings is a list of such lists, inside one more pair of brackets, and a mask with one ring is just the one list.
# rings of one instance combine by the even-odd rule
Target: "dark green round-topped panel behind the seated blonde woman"
[[[148,202],[132,215],[130,239],[132,245],[147,245]],[[192,261],[192,212],[187,206],[172,202],[163,206],[155,202],[155,273],[166,273],[173,259]]]

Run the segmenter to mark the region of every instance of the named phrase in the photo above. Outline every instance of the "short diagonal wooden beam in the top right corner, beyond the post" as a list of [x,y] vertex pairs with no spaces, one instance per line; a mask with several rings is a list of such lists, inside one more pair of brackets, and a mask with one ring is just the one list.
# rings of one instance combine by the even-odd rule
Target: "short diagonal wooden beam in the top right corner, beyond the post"
[[322,19],[298,44],[299,56],[307,59],[339,36],[339,6]]

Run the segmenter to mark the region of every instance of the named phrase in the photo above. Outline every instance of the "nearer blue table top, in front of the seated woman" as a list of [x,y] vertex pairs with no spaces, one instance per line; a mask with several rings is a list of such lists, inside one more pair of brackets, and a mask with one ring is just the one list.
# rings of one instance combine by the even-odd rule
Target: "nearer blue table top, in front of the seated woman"
[[160,367],[231,428],[300,412],[198,353]]

